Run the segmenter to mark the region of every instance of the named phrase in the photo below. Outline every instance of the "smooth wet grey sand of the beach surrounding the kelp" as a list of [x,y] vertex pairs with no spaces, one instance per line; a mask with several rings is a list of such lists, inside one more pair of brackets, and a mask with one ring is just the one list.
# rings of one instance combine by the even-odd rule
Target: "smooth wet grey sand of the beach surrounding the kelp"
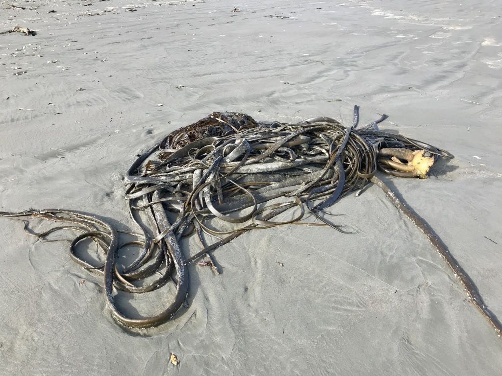
[[[387,181],[502,317],[497,1],[9,4],[0,32],[37,34],[0,35],[0,211],[74,209],[132,228],[122,176],[170,131],[225,110],[349,124],[357,104],[362,122],[389,114],[383,129],[455,155],[427,180]],[[500,374],[501,339],[378,188],[330,211],[358,233],[246,233],[214,253],[221,275],[189,268],[188,308],[142,331],[113,321],[66,243],[0,219],[0,374]],[[169,294],[118,304],[146,315]]]

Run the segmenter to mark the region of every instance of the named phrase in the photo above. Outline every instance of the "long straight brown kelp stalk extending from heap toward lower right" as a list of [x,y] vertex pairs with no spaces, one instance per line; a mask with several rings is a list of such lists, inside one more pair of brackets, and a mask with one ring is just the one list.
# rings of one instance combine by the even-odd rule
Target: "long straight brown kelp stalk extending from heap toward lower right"
[[387,198],[391,203],[408,219],[413,222],[413,224],[429,239],[431,244],[436,248],[441,257],[450,269],[455,273],[455,276],[460,279],[460,282],[464,286],[467,295],[469,296],[471,302],[476,306],[481,314],[488,320],[488,322],[493,325],[496,333],[500,337],[502,335],[502,324],[498,321],[497,317],[491,312],[484,304],[483,298],[479,294],[479,291],[472,281],[472,279],[467,275],[463,268],[459,265],[458,261],[453,257],[450,251],[443,244],[441,239],[434,233],[429,225],[427,225],[419,216],[417,216],[413,211],[402,202],[389,186],[376,176],[371,177],[371,182],[380,187],[382,191],[386,194]]

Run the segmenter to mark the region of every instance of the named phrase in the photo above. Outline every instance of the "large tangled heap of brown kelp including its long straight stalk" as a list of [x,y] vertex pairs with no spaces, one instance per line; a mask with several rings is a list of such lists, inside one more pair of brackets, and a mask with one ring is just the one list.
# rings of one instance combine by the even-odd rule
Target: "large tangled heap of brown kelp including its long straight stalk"
[[[199,265],[210,265],[217,271],[210,253],[246,231],[307,224],[350,233],[350,227],[333,224],[327,210],[352,192],[359,195],[373,182],[428,237],[472,302],[500,334],[499,321],[458,262],[434,232],[376,176],[380,170],[400,177],[425,178],[438,158],[453,156],[425,142],[380,131],[378,124],[386,117],[359,126],[356,106],[352,125],[344,127],[328,117],[286,124],[214,112],[174,131],[140,155],[125,175],[125,196],[140,229],[136,240],[121,240],[123,236],[107,221],[68,210],[0,215],[64,223],[32,235],[46,239],[59,230],[75,232],[70,256],[104,278],[112,316],[127,327],[146,328],[171,319],[185,301],[188,264],[199,260]],[[291,212],[286,219],[275,218],[286,211]],[[309,223],[304,221],[307,215]],[[184,237],[194,237],[200,250],[191,254],[182,251],[180,240]],[[89,239],[104,253],[103,265],[92,265],[75,251],[80,242]],[[120,266],[117,254],[127,246],[137,246],[141,252],[129,265]],[[202,261],[203,257],[206,259]],[[173,299],[156,316],[127,317],[114,304],[114,289],[145,293],[170,281],[176,285]]]

